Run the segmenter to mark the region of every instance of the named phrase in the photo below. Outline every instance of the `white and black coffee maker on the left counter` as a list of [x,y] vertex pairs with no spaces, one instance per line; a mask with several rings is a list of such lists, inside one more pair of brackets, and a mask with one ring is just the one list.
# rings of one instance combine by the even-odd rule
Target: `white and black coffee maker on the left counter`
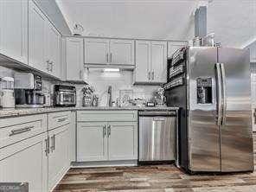
[[31,73],[16,73],[14,78],[16,107],[43,107],[45,99],[42,94],[42,77]]

